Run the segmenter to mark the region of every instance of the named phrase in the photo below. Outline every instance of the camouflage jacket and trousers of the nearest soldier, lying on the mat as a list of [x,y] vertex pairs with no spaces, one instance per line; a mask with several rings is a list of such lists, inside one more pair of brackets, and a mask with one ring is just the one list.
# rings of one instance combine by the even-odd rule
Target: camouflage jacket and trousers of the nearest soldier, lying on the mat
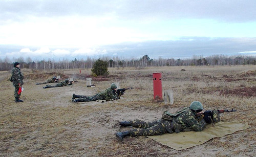
[[187,107],[181,114],[173,118],[173,121],[156,120],[154,122],[143,122],[140,120],[129,121],[131,126],[138,129],[129,131],[131,136],[153,136],[163,133],[180,131],[202,131],[206,125],[203,119],[196,118],[196,113]]

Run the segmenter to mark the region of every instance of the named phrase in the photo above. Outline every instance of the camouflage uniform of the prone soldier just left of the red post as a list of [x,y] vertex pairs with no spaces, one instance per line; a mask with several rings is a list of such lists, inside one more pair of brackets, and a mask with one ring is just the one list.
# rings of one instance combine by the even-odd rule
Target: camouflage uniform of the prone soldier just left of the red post
[[81,96],[80,101],[96,101],[96,100],[110,100],[110,99],[118,99],[118,95],[114,89],[108,88],[105,89],[105,91],[102,91],[100,93],[97,93],[94,96],[88,97],[88,96]]

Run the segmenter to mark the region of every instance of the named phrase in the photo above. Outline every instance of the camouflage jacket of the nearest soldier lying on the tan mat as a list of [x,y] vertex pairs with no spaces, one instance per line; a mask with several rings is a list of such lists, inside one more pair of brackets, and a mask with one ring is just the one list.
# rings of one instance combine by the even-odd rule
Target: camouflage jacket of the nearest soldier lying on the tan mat
[[205,126],[205,121],[203,119],[199,121],[199,118],[196,118],[196,113],[189,107],[187,107],[180,115],[173,118],[175,132],[191,130],[202,131]]

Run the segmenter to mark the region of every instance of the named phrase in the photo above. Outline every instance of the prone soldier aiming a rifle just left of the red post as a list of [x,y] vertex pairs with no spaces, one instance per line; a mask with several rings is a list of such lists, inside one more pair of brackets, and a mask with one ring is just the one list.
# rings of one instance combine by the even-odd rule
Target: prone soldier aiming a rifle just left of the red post
[[[79,99],[75,99],[79,98]],[[115,83],[112,83],[110,88],[105,89],[105,91],[102,91],[100,93],[97,93],[94,96],[80,96],[73,94],[72,102],[86,102],[86,101],[96,101],[96,100],[111,100],[111,99],[120,99],[120,97],[117,94],[117,86]]]

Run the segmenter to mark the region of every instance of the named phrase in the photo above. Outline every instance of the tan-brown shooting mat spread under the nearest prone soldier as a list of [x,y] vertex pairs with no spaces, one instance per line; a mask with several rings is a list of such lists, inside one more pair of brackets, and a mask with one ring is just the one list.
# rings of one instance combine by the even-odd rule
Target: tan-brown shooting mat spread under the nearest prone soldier
[[212,138],[221,138],[227,134],[232,134],[239,130],[249,128],[248,123],[219,122],[206,125],[203,131],[186,131],[179,133],[165,133],[159,136],[148,136],[162,145],[166,145],[175,150],[182,150],[197,145],[201,145]]

